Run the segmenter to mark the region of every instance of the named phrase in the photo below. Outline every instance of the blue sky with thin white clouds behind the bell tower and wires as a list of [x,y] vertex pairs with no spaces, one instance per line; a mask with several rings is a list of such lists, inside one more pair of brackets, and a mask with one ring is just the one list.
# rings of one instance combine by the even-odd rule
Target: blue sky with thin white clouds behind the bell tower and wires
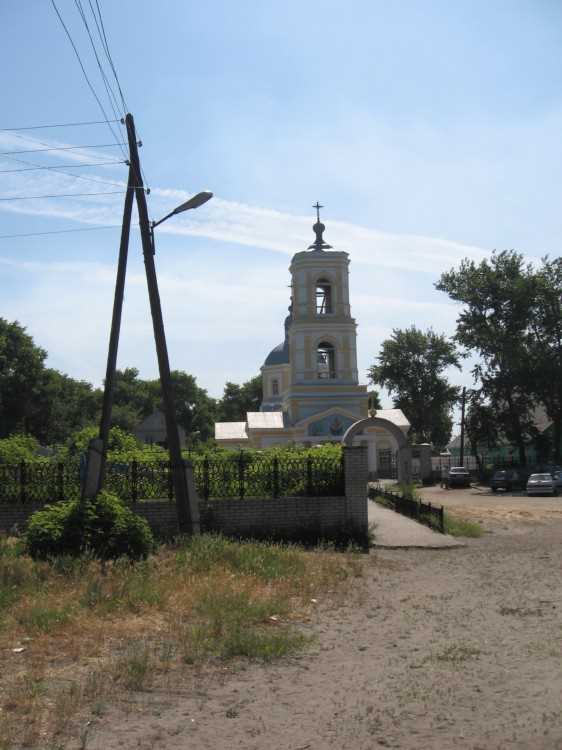
[[[57,5],[101,95],[74,2]],[[287,268],[312,241],[316,200],[326,206],[326,239],[350,253],[362,376],[393,327],[454,330],[457,309],[433,284],[462,258],[494,248],[560,254],[559,2],[101,7],[144,143],[151,216],[201,189],[216,195],[157,230],[171,363],[212,395],[252,377],[282,338]],[[3,0],[0,28],[9,73],[0,128],[99,119],[50,2]],[[0,132],[0,151],[38,141],[86,146],[111,134]],[[80,165],[115,160],[119,149],[18,158]],[[0,157],[0,170],[18,166]],[[126,177],[123,165],[71,172]],[[0,197],[111,189],[46,170],[0,174]],[[0,201],[0,234],[118,224],[122,201]],[[51,366],[96,384],[117,245],[111,229],[0,240],[0,316],[27,326]],[[143,273],[135,235],[119,364],[154,377]],[[468,367],[451,376],[471,382]]]

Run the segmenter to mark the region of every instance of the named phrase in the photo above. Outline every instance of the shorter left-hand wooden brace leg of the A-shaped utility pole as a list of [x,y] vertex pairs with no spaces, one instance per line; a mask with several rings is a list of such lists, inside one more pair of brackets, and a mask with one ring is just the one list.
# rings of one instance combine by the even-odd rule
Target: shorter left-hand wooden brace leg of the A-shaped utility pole
[[121,330],[121,313],[123,310],[123,294],[125,289],[125,275],[127,272],[127,255],[129,252],[129,234],[131,231],[131,213],[133,210],[133,187],[135,181],[133,170],[129,165],[127,192],[123,208],[123,224],[121,227],[121,242],[119,244],[119,260],[115,279],[115,295],[113,299],[113,315],[109,334],[107,352],[107,366],[103,389],[103,405],[98,438],[90,441],[86,459],[86,473],[82,484],[82,498],[95,497],[102,489],[105,477],[105,462],[107,460],[107,444],[109,428],[111,427],[111,407],[113,406],[113,390],[115,386],[115,368],[117,365],[117,349]]

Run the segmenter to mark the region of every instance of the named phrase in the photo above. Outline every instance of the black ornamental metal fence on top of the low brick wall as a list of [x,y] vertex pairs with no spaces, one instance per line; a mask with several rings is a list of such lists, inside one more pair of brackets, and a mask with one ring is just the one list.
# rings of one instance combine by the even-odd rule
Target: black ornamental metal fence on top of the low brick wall
[[[192,461],[199,497],[328,497],[345,494],[343,457],[263,457],[243,452]],[[0,465],[0,503],[49,503],[80,496],[79,463]],[[169,461],[108,462],[105,489],[127,503],[174,500]]]

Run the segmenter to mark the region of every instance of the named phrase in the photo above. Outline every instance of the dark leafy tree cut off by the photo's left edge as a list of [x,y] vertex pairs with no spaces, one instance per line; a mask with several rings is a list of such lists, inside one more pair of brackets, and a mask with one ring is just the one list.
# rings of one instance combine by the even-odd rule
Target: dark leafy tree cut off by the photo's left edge
[[46,356],[17,321],[0,318],[0,437],[29,431]]

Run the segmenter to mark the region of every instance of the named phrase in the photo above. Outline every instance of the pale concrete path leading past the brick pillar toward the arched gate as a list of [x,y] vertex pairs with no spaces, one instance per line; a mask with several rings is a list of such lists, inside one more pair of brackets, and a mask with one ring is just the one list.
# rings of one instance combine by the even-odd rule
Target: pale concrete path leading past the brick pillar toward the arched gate
[[465,546],[456,537],[439,534],[411,518],[401,516],[369,500],[369,524],[371,523],[375,524],[375,547],[443,549]]

